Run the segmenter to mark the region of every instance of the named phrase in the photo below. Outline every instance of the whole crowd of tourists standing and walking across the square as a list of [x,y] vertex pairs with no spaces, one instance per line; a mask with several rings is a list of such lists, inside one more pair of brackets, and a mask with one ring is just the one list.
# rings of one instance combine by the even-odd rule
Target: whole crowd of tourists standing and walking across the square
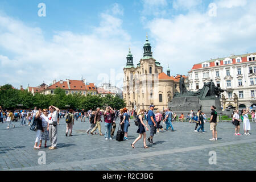
[[[57,125],[59,125],[59,119],[63,117],[67,123],[65,130],[66,137],[72,137],[72,129],[75,124],[75,119],[81,118],[81,122],[85,122],[85,118],[88,118],[90,122],[90,127],[86,131],[87,134],[96,135],[99,134],[105,137],[105,140],[112,140],[115,129],[118,125],[118,131],[116,134],[116,139],[128,140],[128,130],[130,126],[130,119],[133,117],[135,119],[135,125],[138,126],[137,133],[138,137],[131,143],[131,147],[135,148],[135,143],[138,142],[143,137],[143,147],[148,148],[146,140],[154,144],[153,137],[156,133],[159,133],[160,130],[175,131],[173,123],[175,119],[178,121],[184,121],[184,114],[181,113],[180,116],[177,116],[170,108],[165,109],[162,113],[159,110],[156,110],[154,113],[154,105],[150,105],[148,111],[144,109],[127,110],[126,108],[115,110],[110,106],[107,106],[105,110],[100,110],[98,107],[95,111],[90,109],[84,111],[82,109],[79,111],[73,111],[69,109],[68,111],[60,111],[59,108],[55,106],[49,106],[48,109],[37,109],[34,107],[34,110],[25,111],[25,110],[3,110],[0,106],[0,123],[7,123],[7,129],[10,129],[10,126],[15,127],[13,124],[14,121],[20,121],[20,126],[26,126],[26,119],[28,120],[27,126],[31,126],[30,130],[36,131],[36,140],[34,144],[34,149],[40,149],[42,147],[42,142],[44,140],[44,147],[47,147],[47,141],[50,140],[51,146],[49,150],[53,150],[57,146]],[[210,130],[212,131],[212,138],[210,140],[217,140],[217,111],[216,107],[211,106],[212,110],[209,123]],[[235,126],[235,135],[240,134],[240,123],[243,121],[243,130],[244,135],[250,135],[250,121],[249,114],[251,114],[252,122],[255,122],[255,113],[254,111],[249,111],[249,109],[243,109],[241,115],[238,110],[234,110],[232,114],[232,123]],[[120,118],[120,122],[117,123],[117,120]],[[103,120],[103,121],[102,121]],[[146,121],[146,122],[145,122]],[[161,124],[163,121],[166,124],[164,128]],[[187,114],[186,121],[189,123],[196,123],[195,132],[199,133],[200,130],[202,133],[204,131],[204,123],[208,121],[207,116],[200,109],[197,110],[195,114],[193,110],[191,113]],[[101,125],[104,122],[105,132],[102,134]],[[121,130],[119,130],[121,128]],[[98,130],[98,131],[96,131]],[[146,137],[146,131],[150,131],[149,137]],[[123,134],[123,135],[122,135]]]

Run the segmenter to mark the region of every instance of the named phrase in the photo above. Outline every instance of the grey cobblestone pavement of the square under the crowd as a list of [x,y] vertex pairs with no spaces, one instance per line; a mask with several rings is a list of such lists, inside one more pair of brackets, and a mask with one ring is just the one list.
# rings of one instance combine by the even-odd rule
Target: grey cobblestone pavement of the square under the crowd
[[[15,128],[11,129],[6,129],[7,123],[0,124],[0,170],[256,169],[256,123],[250,123],[251,135],[235,136],[232,123],[220,122],[217,125],[218,140],[210,141],[209,123],[205,123],[206,133],[196,133],[195,123],[175,122],[175,131],[157,133],[155,144],[146,141],[149,148],[143,148],[141,139],[133,149],[130,144],[138,137],[133,120],[129,127],[129,140],[117,142],[115,136],[113,140],[105,140],[100,135],[86,134],[90,126],[88,119],[86,122],[75,121],[73,137],[65,137],[66,124],[61,119],[56,150],[44,147],[34,150],[35,132],[28,126],[19,126],[19,122],[14,123]],[[104,124],[101,126],[104,132]],[[150,131],[146,135],[149,136]],[[39,151],[46,152],[46,165],[38,163]],[[216,152],[217,164],[209,164],[210,151]]]

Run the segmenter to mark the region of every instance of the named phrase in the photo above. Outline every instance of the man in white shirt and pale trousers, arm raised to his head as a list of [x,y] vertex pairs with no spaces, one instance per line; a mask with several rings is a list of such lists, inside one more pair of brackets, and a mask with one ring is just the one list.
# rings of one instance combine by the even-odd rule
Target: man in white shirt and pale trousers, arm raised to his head
[[49,131],[49,139],[51,141],[51,147],[49,147],[49,150],[53,150],[57,145],[57,117],[60,109],[55,106],[49,106],[49,111],[51,111],[51,113],[48,114],[47,127],[47,130]]

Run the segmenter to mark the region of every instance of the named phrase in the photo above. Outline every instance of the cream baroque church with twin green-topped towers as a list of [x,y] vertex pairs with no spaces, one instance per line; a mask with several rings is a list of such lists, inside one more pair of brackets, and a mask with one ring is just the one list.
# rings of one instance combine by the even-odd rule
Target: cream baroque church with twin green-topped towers
[[129,49],[126,66],[123,68],[123,98],[127,109],[130,110],[149,110],[149,106],[153,104],[155,109],[163,111],[168,107],[168,101],[172,100],[174,93],[179,92],[180,76],[170,76],[169,68],[167,74],[163,72],[163,67],[152,56],[148,38],[143,50],[143,57],[134,65],[133,55]]

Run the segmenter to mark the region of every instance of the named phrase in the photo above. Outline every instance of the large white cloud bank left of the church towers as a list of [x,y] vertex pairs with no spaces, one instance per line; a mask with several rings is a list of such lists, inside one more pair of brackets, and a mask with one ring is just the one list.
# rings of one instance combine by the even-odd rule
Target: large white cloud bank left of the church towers
[[81,76],[97,83],[97,76],[109,74],[112,68],[116,74],[123,73],[128,47],[133,45],[130,35],[123,30],[121,19],[105,13],[100,18],[92,34],[59,31],[46,40],[40,28],[0,14],[0,48],[13,57],[1,51],[0,85],[36,86]]

